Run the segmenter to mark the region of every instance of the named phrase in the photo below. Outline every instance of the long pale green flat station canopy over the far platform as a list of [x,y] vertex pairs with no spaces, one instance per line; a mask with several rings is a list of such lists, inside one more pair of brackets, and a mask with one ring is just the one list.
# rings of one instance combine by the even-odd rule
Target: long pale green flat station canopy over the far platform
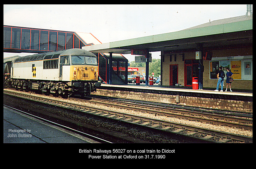
[[91,52],[130,54],[132,49],[184,51],[203,47],[252,44],[252,15],[210,21],[192,28],[82,47]]

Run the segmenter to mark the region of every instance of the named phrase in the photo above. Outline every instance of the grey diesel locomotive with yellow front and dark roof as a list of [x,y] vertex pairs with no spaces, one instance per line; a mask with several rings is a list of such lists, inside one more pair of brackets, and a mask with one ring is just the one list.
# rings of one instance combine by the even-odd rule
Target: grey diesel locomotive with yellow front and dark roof
[[86,96],[100,84],[96,55],[84,49],[67,49],[15,59],[4,86],[68,97]]

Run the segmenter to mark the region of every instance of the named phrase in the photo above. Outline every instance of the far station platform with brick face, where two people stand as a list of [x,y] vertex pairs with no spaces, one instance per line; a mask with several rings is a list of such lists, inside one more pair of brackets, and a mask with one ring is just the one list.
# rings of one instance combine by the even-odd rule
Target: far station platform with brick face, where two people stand
[[[225,88],[226,89],[226,88]],[[108,85],[102,84],[92,93],[97,96],[157,102],[164,104],[180,104],[188,107],[229,110],[235,112],[253,111],[252,92],[215,92],[214,90],[194,90],[192,88],[169,87],[145,84]]]

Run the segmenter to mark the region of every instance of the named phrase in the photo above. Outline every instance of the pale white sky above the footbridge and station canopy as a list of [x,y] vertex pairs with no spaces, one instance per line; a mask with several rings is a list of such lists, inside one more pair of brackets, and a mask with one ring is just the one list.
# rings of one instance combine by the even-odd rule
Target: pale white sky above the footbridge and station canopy
[[[101,43],[107,43],[180,31],[209,20],[245,14],[246,4],[4,4],[3,19],[4,25],[10,26],[92,33]],[[4,57],[12,55],[17,53],[4,53]],[[152,58],[160,59],[159,55],[152,53]],[[134,55],[124,56],[134,61]]]

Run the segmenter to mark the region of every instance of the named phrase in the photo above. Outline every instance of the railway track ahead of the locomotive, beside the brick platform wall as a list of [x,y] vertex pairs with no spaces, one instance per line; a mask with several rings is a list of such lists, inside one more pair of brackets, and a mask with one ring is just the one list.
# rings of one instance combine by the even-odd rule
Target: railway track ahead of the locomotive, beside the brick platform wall
[[[72,98],[70,98],[72,99]],[[76,98],[78,99],[78,98]],[[175,108],[173,107],[166,107],[165,106],[152,106],[152,105],[145,105],[145,104],[138,104],[132,103],[128,100],[126,101],[118,101],[118,100],[109,100],[109,99],[102,99],[102,98],[92,98],[93,100],[86,100],[86,102],[90,102],[92,104],[102,104],[105,106],[113,106],[118,108],[124,108],[128,110],[135,110],[140,112],[146,112],[150,114],[163,115],[168,117],[175,117],[175,118],[182,118],[187,120],[194,120],[199,122],[206,122],[211,124],[218,124],[223,126],[229,127],[236,127],[236,128],[244,128],[246,130],[252,130],[252,118],[248,118],[248,116],[252,117],[252,114],[244,117],[240,117],[238,113],[235,115],[232,113],[221,113],[221,112],[212,112],[205,109],[200,110],[188,110],[178,106]],[[79,99],[80,101],[84,101],[83,99]],[[242,113],[243,114],[243,113]]]

